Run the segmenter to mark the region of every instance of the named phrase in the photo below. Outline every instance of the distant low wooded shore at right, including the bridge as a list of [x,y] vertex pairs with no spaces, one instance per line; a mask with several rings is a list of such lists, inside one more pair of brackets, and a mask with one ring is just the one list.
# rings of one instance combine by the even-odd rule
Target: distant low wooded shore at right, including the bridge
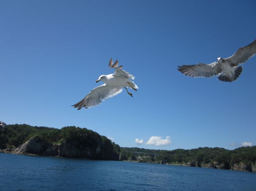
[[[152,150],[138,147],[121,147],[123,160],[135,160],[138,162],[156,162],[181,164],[198,167],[213,167],[220,165],[222,169],[230,169],[230,166],[243,163],[249,166],[256,164],[256,146],[240,147],[234,150],[214,147],[199,147],[197,149]],[[213,166],[209,166],[213,164]]]

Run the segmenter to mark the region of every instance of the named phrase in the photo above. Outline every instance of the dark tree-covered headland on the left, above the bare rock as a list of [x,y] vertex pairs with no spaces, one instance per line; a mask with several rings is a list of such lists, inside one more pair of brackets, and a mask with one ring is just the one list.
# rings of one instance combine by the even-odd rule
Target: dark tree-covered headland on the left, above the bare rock
[[[35,136],[40,141],[62,148],[65,151],[62,157],[119,160],[119,145],[97,132],[75,126],[57,129],[26,124],[6,125],[4,131],[0,130],[0,149],[19,147]],[[68,150],[73,150],[73,153]]]

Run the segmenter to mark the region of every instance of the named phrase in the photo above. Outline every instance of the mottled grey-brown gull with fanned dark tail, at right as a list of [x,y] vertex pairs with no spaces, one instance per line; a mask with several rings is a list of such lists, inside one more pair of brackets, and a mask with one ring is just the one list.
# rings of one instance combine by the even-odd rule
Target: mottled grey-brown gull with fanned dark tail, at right
[[[220,81],[235,81],[243,71],[243,66],[248,59],[256,54],[256,40],[246,47],[241,47],[229,58],[217,58],[217,62],[211,64],[198,63],[197,65],[178,66],[178,70],[190,77],[213,77],[220,75]],[[237,67],[238,66],[238,67]]]

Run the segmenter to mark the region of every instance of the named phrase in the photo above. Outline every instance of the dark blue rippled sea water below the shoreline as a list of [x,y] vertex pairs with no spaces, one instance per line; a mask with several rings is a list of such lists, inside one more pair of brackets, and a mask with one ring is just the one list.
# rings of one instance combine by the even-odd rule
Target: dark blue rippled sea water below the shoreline
[[0,191],[256,191],[256,173],[0,153]]

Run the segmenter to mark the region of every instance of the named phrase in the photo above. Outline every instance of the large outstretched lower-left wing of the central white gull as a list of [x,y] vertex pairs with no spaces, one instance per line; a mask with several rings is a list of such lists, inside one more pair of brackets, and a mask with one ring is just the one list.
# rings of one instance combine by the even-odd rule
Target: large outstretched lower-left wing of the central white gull
[[114,87],[110,85],[100,85],[91,90],[91,92],[84,97],[81,101],[73,105],[80,110],[82,107],[85,109],[99,105],[102,101],[109,99],[123,91],[122,87]]

